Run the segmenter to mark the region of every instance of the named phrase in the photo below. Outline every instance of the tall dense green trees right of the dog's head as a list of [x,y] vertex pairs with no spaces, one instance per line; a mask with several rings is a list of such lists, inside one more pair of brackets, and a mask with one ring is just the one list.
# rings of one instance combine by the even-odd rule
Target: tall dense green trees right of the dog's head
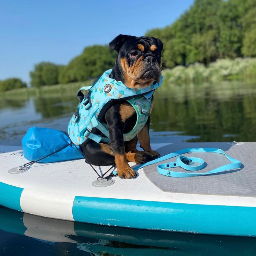
[[167,68],[256,56],[255,0],[195,0],[172,25],[146,35],[163,41]]

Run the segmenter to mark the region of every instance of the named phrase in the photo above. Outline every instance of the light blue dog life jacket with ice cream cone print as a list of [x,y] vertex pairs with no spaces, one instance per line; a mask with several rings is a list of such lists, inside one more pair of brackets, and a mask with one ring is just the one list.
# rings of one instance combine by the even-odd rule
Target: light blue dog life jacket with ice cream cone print
[[[137,113],[136,124],[130,132],[124,133],[124,141],[133,139],[147,122],[152,95],[162,84],[162,77],[155,85],[131,89],[122,82],[111,79],[111,71],[112,69],[107,70],[93,86],[84,86],[77,93],[81,102],[68,125],[69,137],[76,145],[82,145],[88,138],[97,143],[109,142],[107,126],[100,120],[113,101],[127,100]],[[89,92],[84,96],[81,90]],[[95,134],[93,128],[100,130],[105,137]]]

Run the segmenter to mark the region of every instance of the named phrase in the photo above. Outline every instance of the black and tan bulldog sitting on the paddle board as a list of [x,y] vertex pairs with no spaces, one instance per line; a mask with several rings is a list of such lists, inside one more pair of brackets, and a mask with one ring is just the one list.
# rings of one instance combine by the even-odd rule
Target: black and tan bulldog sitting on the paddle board
[[[129,88],[145,88],[152,83],[158,83],[161,79],[162,47],[162,42],[154,37],[118,35],[110,43],[110,48],[118,53],[110,77],[123,82]],[[153,100],[151,109],[152,106]],[[123,134],[134,127],[136,120],[136,111],[126,100],[114,101],[100,120],[108,127],[110,143],[96,143],[89,139],[85,145],[82,144],[81,148],[87,160],[96,166],[115,163],[120,178],[136,177],[136,172],[127,161],[141,164],[159,156],[150,146],[150,118],[135,138],[124,142]],[[138,138],[143,151],[136,148]]]

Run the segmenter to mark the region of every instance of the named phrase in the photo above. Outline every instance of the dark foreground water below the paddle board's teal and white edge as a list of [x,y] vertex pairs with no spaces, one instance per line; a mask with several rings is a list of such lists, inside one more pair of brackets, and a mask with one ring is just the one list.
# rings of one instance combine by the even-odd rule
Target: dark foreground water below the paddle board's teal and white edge
[[[138,230],[43,218],[0,207],[0,244],[12,255],[29,240],[40,255],[255,255],[255,238]],[[11,234],[22,237],[12,240]],[[34,239],[34,240],[31,240]],[[10,241],[9,241],[10,239]],[[46,250],[45,250],[46,249]],[[68,253],[69,252],[69,253]],[[28,251],[19,251],[27,255]],[[55,254],[54,254],[55,253]],[[85,254],[86,253],[86,254]],[[88,253],[88,254],[87,254]]]

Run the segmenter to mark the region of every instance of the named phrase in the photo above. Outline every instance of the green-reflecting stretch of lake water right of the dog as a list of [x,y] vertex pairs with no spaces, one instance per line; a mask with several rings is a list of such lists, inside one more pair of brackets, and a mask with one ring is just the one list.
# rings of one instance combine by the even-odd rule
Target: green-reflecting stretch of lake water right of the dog
[[[253,88],[252,88],[253,87]],[[154,131],[182,131],[189,141],[255,141],[256,86],[225,83],[160,87]]]

